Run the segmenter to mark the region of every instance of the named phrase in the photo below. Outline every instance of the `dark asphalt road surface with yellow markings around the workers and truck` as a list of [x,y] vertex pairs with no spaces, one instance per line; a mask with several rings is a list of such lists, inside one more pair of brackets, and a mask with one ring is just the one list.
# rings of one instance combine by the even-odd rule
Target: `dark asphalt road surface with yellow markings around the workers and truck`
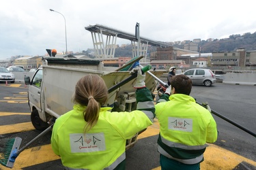
[[[28,87],[24,84],[0,84],[0,139],[21,137],[20,147],[40,134],[30,122],[27,103]],[[193,86],[190,94],[199,103],[210,107],[256,133],[256,86],[214,84]],[[218,126],[218,140],[205,152],[201,169],[256,169],[256,138],[233,124],[213,115]],[[126,169],[160,169],[156,141],[159,133],[157,119],[139,135],[133,148],[126,152]],[[22,152],[14,169],[63,169],[59,156],[51,150],[51,132]],[[8,169],[0,165],[0,169]]]

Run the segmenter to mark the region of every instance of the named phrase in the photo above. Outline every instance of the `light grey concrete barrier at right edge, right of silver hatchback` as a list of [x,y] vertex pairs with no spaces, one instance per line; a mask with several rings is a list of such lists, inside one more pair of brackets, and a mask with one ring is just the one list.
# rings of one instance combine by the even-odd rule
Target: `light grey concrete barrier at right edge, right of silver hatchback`
[[256,73],[226,73],[223,83],[256,86]]

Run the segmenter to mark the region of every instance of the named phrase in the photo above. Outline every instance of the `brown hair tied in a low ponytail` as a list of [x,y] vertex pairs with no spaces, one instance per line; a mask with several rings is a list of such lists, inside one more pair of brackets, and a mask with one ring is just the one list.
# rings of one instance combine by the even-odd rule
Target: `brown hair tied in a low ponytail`
[[76,83],[72,101],[87,106],[83,112],[87,122],[85,132],[98,122],[100,107],[106,103],[108,94],[106,84],[99,75],[85,75]]

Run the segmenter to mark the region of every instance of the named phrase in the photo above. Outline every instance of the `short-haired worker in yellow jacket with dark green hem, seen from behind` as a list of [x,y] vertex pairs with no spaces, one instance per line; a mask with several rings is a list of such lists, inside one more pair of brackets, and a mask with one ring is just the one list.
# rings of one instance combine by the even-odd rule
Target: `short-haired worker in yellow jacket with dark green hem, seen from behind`
[[192,82],[186,75],[173,75],[171,86],[155,106],[160,123],[157,143],[162,170],[200,169],[206,143],[217,139],[214,118],[189,96],[191,88]]

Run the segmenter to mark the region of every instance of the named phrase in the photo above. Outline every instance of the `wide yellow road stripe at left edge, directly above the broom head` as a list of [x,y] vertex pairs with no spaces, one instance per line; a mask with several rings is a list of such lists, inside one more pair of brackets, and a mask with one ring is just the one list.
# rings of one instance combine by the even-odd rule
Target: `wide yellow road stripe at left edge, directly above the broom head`
[[31,122],[8,124],[0,126],[0,134],[31,131],[33,129],[35,128],[33,127],[33,124]]

